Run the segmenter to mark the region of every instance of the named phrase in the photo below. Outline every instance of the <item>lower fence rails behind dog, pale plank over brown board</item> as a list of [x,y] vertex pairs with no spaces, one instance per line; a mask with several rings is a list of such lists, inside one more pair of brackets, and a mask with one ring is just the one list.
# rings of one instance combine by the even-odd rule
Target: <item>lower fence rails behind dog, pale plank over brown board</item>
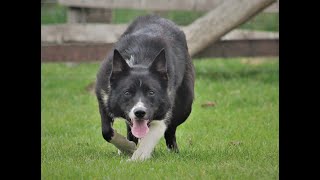
[[[42,26],[41,59],[43,62],[103,60],[126,27],[126,24]],[[278,33],[236,29],[195,57],[278,56],[278,39]]]

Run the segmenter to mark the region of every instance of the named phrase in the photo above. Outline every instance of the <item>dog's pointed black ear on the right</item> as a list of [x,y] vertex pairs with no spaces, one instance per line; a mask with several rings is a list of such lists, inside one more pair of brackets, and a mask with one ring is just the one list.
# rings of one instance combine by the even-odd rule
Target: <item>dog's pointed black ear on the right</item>
[[161,49],[156,58],[154,58],[153,62],[149,66],[149,69],[151,72],[160,73],[161,75],[167,75],[167,60],[164,49]]

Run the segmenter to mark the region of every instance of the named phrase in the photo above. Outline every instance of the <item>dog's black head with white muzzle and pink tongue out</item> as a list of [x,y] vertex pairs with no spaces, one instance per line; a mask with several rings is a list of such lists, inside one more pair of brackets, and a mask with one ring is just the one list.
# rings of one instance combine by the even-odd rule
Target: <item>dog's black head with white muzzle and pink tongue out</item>
[[165,50],[147,67],[128,65],[114,50],[110,87],[111,109],[126,117],[134,136],[145,136],[149,123],[163,119],[170,108]]

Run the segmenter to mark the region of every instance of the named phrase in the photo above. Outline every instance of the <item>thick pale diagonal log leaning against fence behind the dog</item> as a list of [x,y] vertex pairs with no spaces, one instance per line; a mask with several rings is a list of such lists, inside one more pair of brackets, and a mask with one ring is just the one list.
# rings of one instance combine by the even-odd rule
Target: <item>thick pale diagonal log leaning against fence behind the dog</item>
[[185,34],[190,55],[194,56],[275,1],[225,0],[186,27]]

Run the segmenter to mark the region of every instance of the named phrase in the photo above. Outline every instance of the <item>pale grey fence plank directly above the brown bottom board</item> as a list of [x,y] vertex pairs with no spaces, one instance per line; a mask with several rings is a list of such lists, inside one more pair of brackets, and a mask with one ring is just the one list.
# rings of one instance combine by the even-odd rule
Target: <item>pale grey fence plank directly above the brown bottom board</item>
[[[60,24],[41,27],[43,43],[114,43],[127,28],[127,24]],[[180,27],[185,30],[186,26]],[[277,32],[259,32],[235,29],[221,40],[274,40]]]

